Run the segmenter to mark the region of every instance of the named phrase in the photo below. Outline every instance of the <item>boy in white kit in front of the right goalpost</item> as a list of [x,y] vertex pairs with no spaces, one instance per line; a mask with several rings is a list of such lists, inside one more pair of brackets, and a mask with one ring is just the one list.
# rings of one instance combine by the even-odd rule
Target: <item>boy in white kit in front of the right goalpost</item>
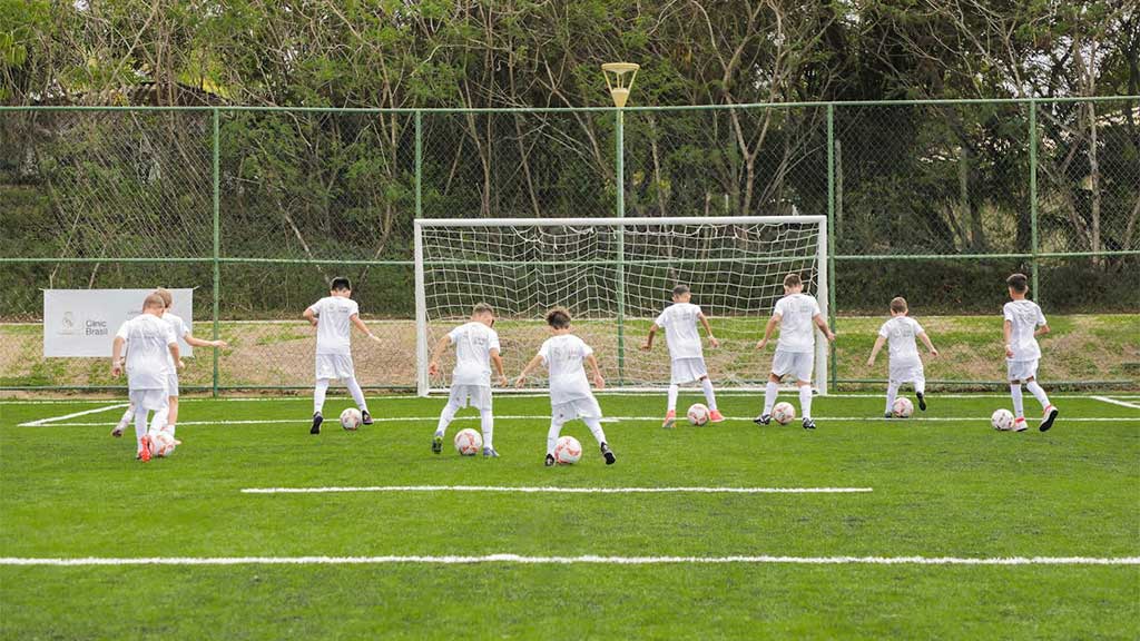
[[772,338],[776,324],[780,324],[780,342],[772,357],[772,373],[764,391],[764,412],[752,421],[759,425],[772,422],[772,406],[776,403],[780,391],[780,380],[787,375],[796,376],[799,386],[799,405],[804,415],[804,429],[814,430],[812,420],[812,370],[815,367],[815,327],[823,332],[829,341],[836,335],[828,328],[828,320],[820,313],[820,303],[804,292],[804,282],[799,274],[784,276],[784,297],[776,301],[772,318],[764,328],[764,338],[756,343],[756,349],[764,349]]

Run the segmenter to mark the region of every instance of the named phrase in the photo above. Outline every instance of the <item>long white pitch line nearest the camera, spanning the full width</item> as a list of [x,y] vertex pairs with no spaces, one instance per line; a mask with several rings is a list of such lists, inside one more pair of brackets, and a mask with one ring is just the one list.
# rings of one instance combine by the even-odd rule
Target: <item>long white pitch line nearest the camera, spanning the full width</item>
[[372,565],[797,565],[797,566],[1140,566],[1140,557],[527,557],[484,554],[481,557],[0,557],[0,566],[372,566]]

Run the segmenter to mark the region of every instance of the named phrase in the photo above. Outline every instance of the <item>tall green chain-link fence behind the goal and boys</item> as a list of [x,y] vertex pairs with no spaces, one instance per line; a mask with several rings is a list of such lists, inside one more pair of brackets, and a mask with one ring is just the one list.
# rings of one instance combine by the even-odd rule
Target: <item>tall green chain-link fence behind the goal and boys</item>
[[[230,343],[184,387],[307,388],[300,315],[342,274],[383,339],[359,346],[361,381],[412,388],[416,217],[826,214],[840,331],[894,295],[992,314],[1017,270],[1053,313],[1140,310],[1138,97],[3,107],[0,149],[0,389],[122,386],[101,360],[42,357],[40,290],[153,285],[196,287],[195,334]],[[834,382],[873,378],[842,351]]]

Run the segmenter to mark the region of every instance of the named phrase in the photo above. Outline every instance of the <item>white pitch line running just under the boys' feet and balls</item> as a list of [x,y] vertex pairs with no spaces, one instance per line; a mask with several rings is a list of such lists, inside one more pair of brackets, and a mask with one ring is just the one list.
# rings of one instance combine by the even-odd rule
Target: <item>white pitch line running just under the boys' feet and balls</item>
[[[125,407],[122,405],[120,407]],[[861,421],[864,423],[889,423],[889,424],[919,424],[919,423],[990,423],[990,416],[928,416],[921,419],[883,419],[882,416],[816,416],[817,421]],[[439,420],[439,416],[383,416],[374,417],[373,421],[376,423],[407,423],[413,421],[429,421],[433,422]],[[535,414],[528,416],[495,416],[496,421],[549,421],[551,416],[548,414]],[[335,419],[326,419],[326,422],[332,421],[335,424]],[[479,421],[479,416],[456,416],[455,421]],[[624,421],[628,422],[660,422],[660,416],[606,416],[602,419],[603,423],[620,423]],[[1140,423],[1138,417],[1129,416],[1077,416],[1077,417],[1062,417],[1059,420],[1062,423],[1126,423],[1134,422]],[[284,425],[284,424],[300,424],[310,423],[311,419],[250,419],[250,420],[238,420],[238,421],[179,421],[179,427],[186,425]],[[727,423],[749,423],[751,424],[751,419],[726,419]],[[683,421],[682,421],[683,423]],[[48,423],[44,425],[32,425],[32,427],[49,427],[49,428],[105,428],[108,425],[114,425],[115,423]],[[28,427],[30,423],[22,423],[19,427]],[[792,421],[789,423],[789,428],[798,427],[798,421]],[[693,429],[711,429],[711,425],[706,425],[702,428]],[[779,429],[779,425],[774,425]]]

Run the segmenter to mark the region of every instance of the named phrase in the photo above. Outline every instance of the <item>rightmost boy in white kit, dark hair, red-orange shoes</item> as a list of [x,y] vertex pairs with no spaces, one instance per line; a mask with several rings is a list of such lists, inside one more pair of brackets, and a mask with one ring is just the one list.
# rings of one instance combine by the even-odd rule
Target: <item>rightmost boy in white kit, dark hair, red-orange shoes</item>
[[1037,428],[1049,431],[1053,427],[1059,412],[1045,396],[1045,390],[1037,384],[1037,362],[1041,358],[1041,347],[1037,336],[1049,333],[1045,315],[1037,303],[1025,298],[1029,291],[1029,281],[1025,274],[1013,274],[1005,279],[1009,285],[1009,298],[1002,309],[1005,335],[1005,368],[1009,374],[1009,393],[1013,397],[1013,431],[1025,431],[1025,405],[1021,400],[1021,382],[1025,389],[1041,403],[1044,415]]

